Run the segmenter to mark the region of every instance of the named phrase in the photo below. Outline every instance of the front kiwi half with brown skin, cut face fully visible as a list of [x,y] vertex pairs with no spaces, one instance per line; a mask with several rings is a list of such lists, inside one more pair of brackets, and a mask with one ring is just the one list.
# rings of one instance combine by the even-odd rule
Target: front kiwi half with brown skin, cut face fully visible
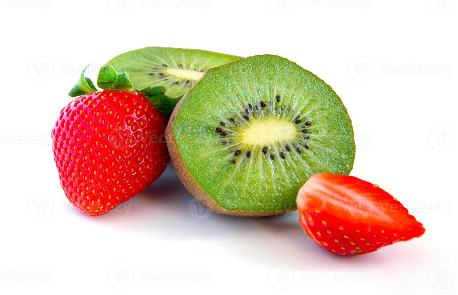
[[348,174],[355,153],[338,95],[274,55],[207,70],[175,107],[166,139],[185,187],[214,212],[241,216],[296,209],[309,177]]

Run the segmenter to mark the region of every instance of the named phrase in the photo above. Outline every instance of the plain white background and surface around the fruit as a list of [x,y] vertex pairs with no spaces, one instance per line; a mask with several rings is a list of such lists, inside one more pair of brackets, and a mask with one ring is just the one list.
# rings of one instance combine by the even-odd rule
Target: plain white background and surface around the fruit
[[[456,2],[0,0],[0,293],[457,294]],[[425,235],[340,257],[297,212],[204,212],[172,166],[108,214],[76,211],[52,126],[88,63],[95,78],[145,46],[278,54],[314,72],[353,120],[351,174],[398,198]]]

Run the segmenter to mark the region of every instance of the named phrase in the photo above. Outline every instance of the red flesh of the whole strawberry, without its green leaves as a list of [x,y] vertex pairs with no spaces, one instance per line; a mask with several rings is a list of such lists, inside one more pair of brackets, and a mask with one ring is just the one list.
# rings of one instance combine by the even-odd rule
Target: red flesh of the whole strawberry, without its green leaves
[[88,215],[101,215],[147,188],[169,163],[167,121],[135,91],[76,97],[51,134],[69,201]]

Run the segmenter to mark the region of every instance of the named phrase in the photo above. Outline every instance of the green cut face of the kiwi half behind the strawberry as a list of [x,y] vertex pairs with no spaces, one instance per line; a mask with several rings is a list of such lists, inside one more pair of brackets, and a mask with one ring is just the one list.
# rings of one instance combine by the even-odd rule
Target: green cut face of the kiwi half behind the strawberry
[[146,47],[120,54],[107,64],[127,73],[133,89],[164,86],[165,95],[180,97],[205,70],[240,58],[199,49]]

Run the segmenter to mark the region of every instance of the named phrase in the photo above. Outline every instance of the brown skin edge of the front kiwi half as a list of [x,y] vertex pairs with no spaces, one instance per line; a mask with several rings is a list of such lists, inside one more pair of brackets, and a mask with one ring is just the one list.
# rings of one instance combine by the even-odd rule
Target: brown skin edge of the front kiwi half
[[[205,74],[204,74],[205,75]],[[203,76],[203,75],[202,75]],[[202,79],[202,78],[201,78]],[[198,83],[199,81],[197,81]],[[196,84],[197,84],[196,83]],[[194,85],[196,85],[194,84]],[[191,88],[192,89],[192,88]],[[186,93],[187,94],[187,93]],[[178,110],[180,110],[181,103],[186,97],[183,96],[180,102],[174,108],[172,115],[170,116],[169,123],[167,124],[167,128],[165,129],[165,139],[167,141],[167,147],[169,149],[170,159],[172,160],[172,164],[175,167],[176,173],[178,174],[178,178],[183,183],[185,188],[191,193],[199,202],[202,203],[207,209],[225,215],[236,215],[236,216],[245,216],[245,217],[256,217],[256,216],[272,216],[272,215],[279,215],[289,211],[297,210],[297,206],[291,207],[286,210],[282,211],[242,211],[242,210],[226,210],[219,206],[212,197],[210,197],[201,187],[200,185],[194,180],[192,177],[191,172],[189,172],[188,168],[183,161],[183,157],[181,156],[180,150],[178,149],[178,145],[175,139],[175,135],[172,131],[172,124],[174,119],[176,118],[176,114]]]

